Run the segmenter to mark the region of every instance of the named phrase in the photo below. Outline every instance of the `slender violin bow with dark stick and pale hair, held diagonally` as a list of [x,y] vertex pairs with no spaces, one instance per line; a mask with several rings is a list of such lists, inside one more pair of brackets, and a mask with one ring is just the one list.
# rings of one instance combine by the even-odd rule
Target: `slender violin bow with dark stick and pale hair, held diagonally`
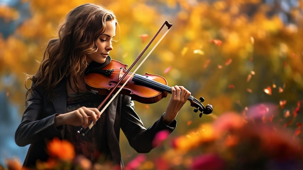
[[[132,75],[129,76],[127,78],[127,80],[124,82],[124,84],[122,84],[122,86],[119,88],[119,90],[111,97],[110,100],[108,100],[110,98],[110,96],[114,93],[114,91],[118,88],[118,86],[120,85],[120,83],[122,82],[122,80],[127,76],[127,74],[130,72],[130,70],[135,66],[135,64],[139,61],[139,59],[142,57],[142,55],[144,54],[144,52],[147,50],[147,48],[152,44],[153,40],[156,38],[156,36],[160,33],[160,31],[164,28],[164,26],[167,26],[167,31],[162,35],[162,37],[157,41],[157,43],[152,47],[151,51],[146,55],[146,57],[138,64],[138,66],[136,67],[136,69],[133,71]],[[166,34],[168,33],[168,31],[170,30],[170,28],[172,27],[172,24],[170,24],[167,20],[164,22],[164,24],[161,26],[161,28],[157,31],[157,33],[152,37],[152,40],[149,42],[149,44],[143,49],[143,51],[140,53],[140,55],[136,58],[135,62],[132,63],[132,65],[129,67],[129,69],[126,70],[126,72],[124,73],[124,75],[119,79],[118,83],[110,90],[110,92],[107,94],[106,98],[103,100],[103,102],[98,106],[98,110],[100,110],[100,108],[102,108],[105,103],[106,105],[102,108],[102,110],[100,111],[100,113],[102,114],[106,108],[110,105],[110,103],[116,98],[116,96],[121,92],[121,90],[124,88],[124,86],[127,84],[127,82],[130,80],[131,77],[133,77],[136,73],[136,71],[140,68],[140,66],[143,64],[143,62],[146,61],[146,59],[151,55],[152,51],[156,48],[156,46],[158,46],[158,44],[162,41],[162,39],[166,36]],[[98,120],[97,120],[98,121]],[[85,136],[87,134],[87,132],[89,130],[91,130],[91,128],[93,127],[93,122],[91,122],[89,124],[89,126],[83,130],[83,127],[77,131],[78,134],[80,134],[82,136]]]

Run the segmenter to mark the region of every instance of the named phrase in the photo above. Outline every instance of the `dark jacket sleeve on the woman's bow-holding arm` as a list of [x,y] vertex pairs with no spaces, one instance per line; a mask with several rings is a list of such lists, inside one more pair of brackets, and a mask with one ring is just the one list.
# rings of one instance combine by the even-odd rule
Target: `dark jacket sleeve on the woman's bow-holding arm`
[[53,113],[45,113],[45,102],[48,102],[42,87],[33,88],[26,100],[26,108],[21,123],[15,132],[15,142],[18,146],[26,146],[42,139],[61,138],[61,132],[55,125]]

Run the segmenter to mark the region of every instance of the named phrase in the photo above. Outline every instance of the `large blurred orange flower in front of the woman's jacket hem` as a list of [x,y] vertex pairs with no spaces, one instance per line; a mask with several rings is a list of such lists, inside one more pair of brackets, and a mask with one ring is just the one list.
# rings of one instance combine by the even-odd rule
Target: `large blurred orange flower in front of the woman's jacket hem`
[[50,156],[64,161],[71,161],[76,155],[75,148],[69,141],[58,138],[54,138],[48,143],[47,151]]

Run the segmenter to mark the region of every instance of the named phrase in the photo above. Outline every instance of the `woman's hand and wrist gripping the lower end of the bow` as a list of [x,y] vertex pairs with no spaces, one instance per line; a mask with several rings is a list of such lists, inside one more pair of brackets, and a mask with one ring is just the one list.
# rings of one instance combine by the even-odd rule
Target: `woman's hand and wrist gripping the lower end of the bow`
[[97,108],[81,107],[74,111],[56,116],[55,126],[58,127],[62,124],[69,124],[86,128],[90,124],[90,121],[92,121],[93,124],[96,124],[96,121],[100,116],[101,113]]

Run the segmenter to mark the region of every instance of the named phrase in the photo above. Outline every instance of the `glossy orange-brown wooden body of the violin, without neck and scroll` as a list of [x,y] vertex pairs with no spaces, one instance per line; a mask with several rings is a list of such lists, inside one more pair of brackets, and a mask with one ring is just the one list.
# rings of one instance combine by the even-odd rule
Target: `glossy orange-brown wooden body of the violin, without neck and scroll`
[[[123,76],[126,71],[126,67],[127,65],[119,61],[111,60],[111,62],[109,62],[102,70],[98,71],[99,73],[89,73],[85,76],[85,82],[88,89],[90,89],[91,93],[94,94],[108,94]],[[120,84],[122,85],[130,76],[131,74],[128,74]],[[143,77],[144,82],[134,81],[134,77],[135,79],[137,77]],[[156,103],[162,98],[167,97],[167,92],[157,90],[157,87],[148,87],[149,85],[145,83],[146,81],[154,81],[167,85],[167,80],[164,77],[145,73],[144,75],[134,75],[121,90],[121,93],[131,96],[132,100],[145,104]],[[118,88],[120,88],[121,85],[119,85]]]

